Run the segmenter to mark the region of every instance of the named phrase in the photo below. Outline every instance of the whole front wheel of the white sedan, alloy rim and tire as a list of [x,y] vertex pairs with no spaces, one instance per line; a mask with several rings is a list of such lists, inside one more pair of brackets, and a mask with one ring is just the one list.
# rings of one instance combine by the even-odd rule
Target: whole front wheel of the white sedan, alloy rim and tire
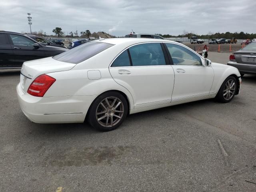
[[217,100],[222,103],[230,102],[237,90],[237,81],[236,78],[233,76],[229,76],[226,80],[222,83],[220,90],[216,96]]

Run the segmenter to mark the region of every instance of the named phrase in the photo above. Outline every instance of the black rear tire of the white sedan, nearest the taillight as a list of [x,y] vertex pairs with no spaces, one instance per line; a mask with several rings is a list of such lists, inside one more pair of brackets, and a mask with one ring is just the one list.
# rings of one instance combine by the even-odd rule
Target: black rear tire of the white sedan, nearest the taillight
[[[117,100],[113,104],[115,98],[117,98]],[[106,102],[106,99],[108,100],[109,103]],[[113,112],[113,110],[115,109],[114,109],[114,106],[112,106],[112,104],[116,106],[119,102],[121,102],[121,104],[118,105],[116,110],[123,111],[123,113]],[[105,109],[102,107],[101,103],[104,104]],[[109,108],[107,106],[109,106]],[[106,110],[106,113],[101,110],[103,114],[100,114],[100,115],[102,116],[99,117],[100,115],[98,115],[97,117],[96,112],[98,110],[98,113],[101,113],[101,111],[99,112],[100,108],[102,108],[102,110]],[[94,102],[90,106],[87,120],[92,127],[100,131],[104,131],[104,132],[112,131],[118,128],[122,124],[122,122],[127,116],[127,113],[128,113],[128,104],[125,97],[119,92],[110,91],[110,92],[101,94],[94,100]],[[116,118],[116,116],[113,116],[114,114],[116,114],[121,118]],[[103,116],[106,116],[106,117],[98,121],[98,119],[102,118]],[[111,126],[111,122],[112,122],[112,126]],[[106,123],[107,126],[103,126],[102,125],[103,123],[104,124]]]

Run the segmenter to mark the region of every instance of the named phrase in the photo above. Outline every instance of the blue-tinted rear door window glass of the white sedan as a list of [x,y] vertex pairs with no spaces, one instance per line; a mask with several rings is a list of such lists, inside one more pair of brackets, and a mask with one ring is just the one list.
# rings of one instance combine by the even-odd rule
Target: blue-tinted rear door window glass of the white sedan
[[129,48],[133,66],[166,65],[160,43],[146,43]]

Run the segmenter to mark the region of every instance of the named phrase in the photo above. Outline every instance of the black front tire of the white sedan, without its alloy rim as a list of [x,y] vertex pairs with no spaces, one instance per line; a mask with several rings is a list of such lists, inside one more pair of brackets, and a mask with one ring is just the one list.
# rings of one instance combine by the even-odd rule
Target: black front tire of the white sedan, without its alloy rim
[[[231,81],[231,80],[233,80],[234,82],[235,82],[235,90],[231,90],[231,91],[234,91],[234,94],[232,95],[232,96],[230,96],[230,98],[225,98],[224,97],[224,88],[226,88],[226,83],[228,82],[228,81]],[[236,78],[234,78],[233,76],[228,76],[225,80],[224,80],[224,82],[222,83],[222,85],[220,86],[220,89],[219,89],[219,91],[218,91],[218,94],[216,95],[216,100],[218,101],[218,102],[222,102],[222,103],[227,103],[227,102],[230,102],[233,98],[234,98],[234,96],[235,96],[235,94],[236,94],[236,91],[237,91],[237,88],[238,88],[238,82],[237,82],[237,80],[236,80]]]

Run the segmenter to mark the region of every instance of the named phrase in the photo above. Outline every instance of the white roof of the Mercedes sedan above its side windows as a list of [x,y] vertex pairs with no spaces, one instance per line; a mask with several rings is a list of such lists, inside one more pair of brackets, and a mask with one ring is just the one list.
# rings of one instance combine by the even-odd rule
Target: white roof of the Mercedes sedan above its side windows
[[[153,38],[108,38],[108,39],[99,39],[94,40],[93,42],[103,42],[103,43],[110,43],[110,44],[122,44],[122,43],[144,43],[144,42],[174,42],[165,39],[153,39]],[[177,42],[174,42],[177,43]]]

